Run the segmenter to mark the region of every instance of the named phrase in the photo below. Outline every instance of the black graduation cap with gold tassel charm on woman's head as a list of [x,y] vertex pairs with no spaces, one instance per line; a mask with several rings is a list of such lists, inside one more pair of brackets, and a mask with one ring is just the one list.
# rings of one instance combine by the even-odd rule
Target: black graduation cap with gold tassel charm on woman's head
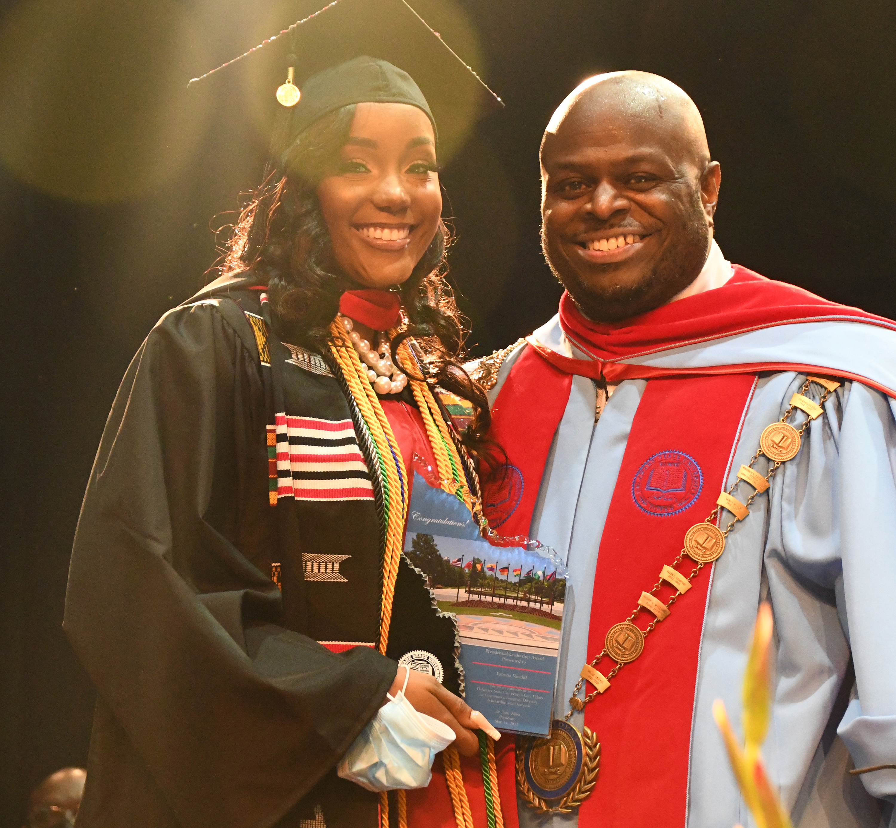
[[404,0],[335,0],[190,85],[241,64],[270,83],[289,139],[349,103],[409,103],[435,120],[445,160],[478,117],[504,106]]

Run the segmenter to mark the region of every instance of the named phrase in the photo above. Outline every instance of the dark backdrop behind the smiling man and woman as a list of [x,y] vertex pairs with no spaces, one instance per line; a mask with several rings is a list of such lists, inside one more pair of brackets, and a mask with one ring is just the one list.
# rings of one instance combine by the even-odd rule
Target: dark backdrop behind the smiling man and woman
[[[443,177],[473,353],[555,312],[538,247],[540,134],[584,77],[622,68],[666,75],[701,109],[729,259],[896,316],[890,0],[411,3],[507,104]],[[94,691],[60,625],[116,386],[159,315],[202,285],[211,217],[263,166],[258,100],[228,93],[197,114],[184,81],[317,5],[4,7],[0,828],[19,828],[40,779],[87,758]]]

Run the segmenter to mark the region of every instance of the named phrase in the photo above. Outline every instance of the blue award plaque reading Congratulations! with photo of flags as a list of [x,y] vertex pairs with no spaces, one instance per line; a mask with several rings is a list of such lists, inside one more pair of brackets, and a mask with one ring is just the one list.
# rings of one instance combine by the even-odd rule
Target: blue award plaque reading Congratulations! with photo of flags
[[[529,543],[528,546],[534,546]],[[550,729],[566,570],[549,549],[493,546],[470,511],[415,475],[405,555],[457,617],[464,697],[496,728]]]

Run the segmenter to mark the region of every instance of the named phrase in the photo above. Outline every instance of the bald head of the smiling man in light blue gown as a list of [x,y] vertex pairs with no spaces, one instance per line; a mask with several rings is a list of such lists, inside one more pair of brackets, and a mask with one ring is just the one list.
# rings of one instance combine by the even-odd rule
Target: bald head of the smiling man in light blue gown
[[547,261],[591,319],[642,314],[699,274],[720,171],[674,83],[645,72],[582,82],[547,125],[541,173]]

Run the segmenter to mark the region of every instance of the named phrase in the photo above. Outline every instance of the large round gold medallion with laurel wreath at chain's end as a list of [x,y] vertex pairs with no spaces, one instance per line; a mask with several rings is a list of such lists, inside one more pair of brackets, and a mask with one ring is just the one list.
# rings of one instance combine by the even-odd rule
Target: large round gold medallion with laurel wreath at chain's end
[[589,728],[583,733],[555,719],[542,738],[521,738],[516,748],[516,786],[526,804],[541,814],[568,814],[582,804],[598,781],[600,744]]

